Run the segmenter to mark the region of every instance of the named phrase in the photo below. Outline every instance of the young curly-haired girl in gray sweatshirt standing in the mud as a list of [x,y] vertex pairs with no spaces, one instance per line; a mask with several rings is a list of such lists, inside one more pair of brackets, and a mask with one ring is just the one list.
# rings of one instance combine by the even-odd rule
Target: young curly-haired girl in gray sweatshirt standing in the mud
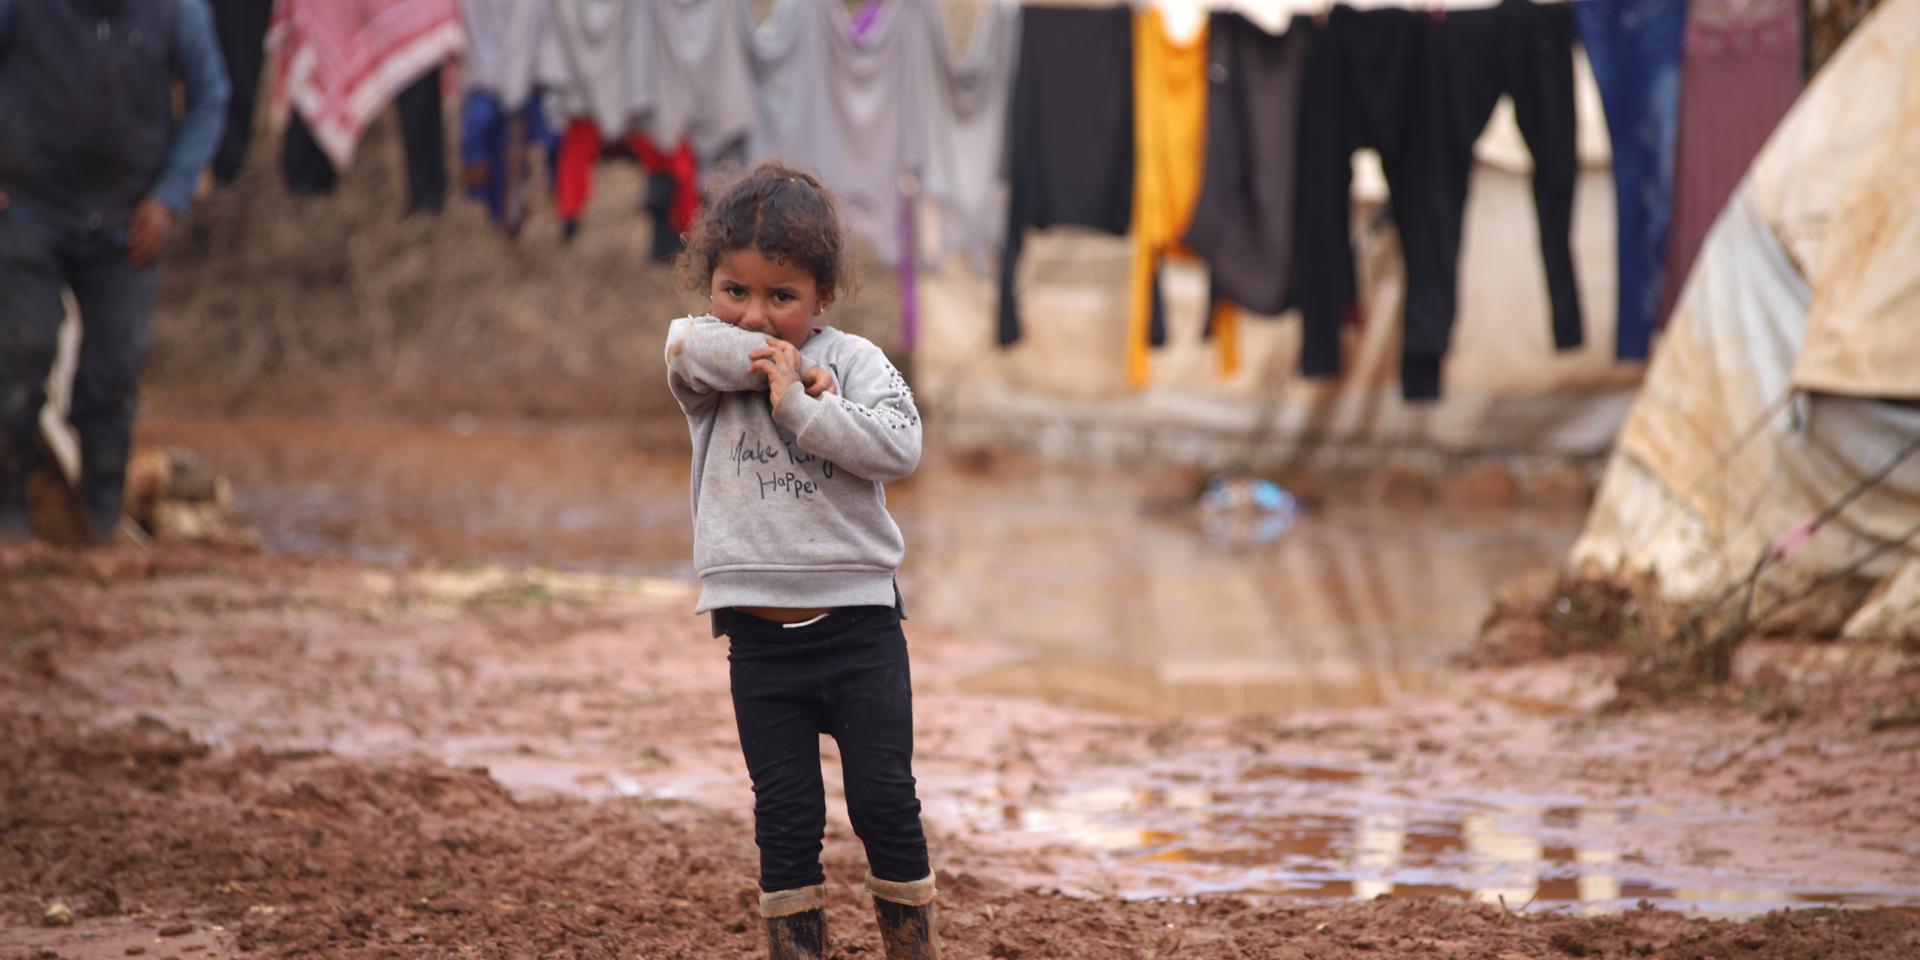
[[887,956],[939,950],[895,588],[906,543],[881,488],[920,463],[920,413],[879,348],[818,326],[847,253],[833,194],[762,163],[689,230],[682,276],[712,313],[666,334],[693,434],[695,612],[730,641],[776,960],[826,950],[820,733],[839,743]]

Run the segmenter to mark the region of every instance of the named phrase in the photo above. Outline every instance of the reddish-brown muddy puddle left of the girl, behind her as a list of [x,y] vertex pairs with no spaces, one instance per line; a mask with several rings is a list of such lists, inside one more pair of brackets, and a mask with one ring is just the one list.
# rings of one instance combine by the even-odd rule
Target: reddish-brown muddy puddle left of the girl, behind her
[[685,459],[607,426],[140,422],[234,486],[271,551],[691,576]]

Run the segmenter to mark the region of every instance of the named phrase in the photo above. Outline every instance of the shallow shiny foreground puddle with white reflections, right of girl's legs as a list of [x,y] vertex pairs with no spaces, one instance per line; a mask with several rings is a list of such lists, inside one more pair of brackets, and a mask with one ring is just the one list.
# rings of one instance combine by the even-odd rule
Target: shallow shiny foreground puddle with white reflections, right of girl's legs
[[[1258,768],[1256,768],[1258,770]],[[1304,768],[1317,770],[1317,768]],[[1309,774],[1311,776],[1311,774]],[[1359,774],[1354,774],[1359,778]],[[1066,839],[1144,876],[1131,897],[1252,893],[1325,899],[1450,897],[1607,914],[1640,900],[1741,916],[1782,906],[1899,906],[1920,889],[1816,891],[1661,883],[1619,852],[1620,828],[1644,816],[1603,806],[1488,806],[1346,795],[1357,812],[1273,812],[1273,797],[1206,787],[1121,785],[1008,803],[981,791],[950,810]],[[1292,797],[1288,808],[1302,808]],[[1144,828],[1142,824],[1154,824]]]

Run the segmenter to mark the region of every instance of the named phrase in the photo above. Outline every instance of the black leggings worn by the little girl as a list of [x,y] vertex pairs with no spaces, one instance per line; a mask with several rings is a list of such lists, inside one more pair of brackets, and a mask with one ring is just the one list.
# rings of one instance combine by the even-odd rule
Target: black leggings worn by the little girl
[[820,733],[839,743],[847,814],[866,845],[868,870],[897,883],[924,879],[927,837],[914,793],[914,695],[899,611],[843,607],[793,628],[728,611],[722,628],[753,778],[760,889],[826,881]]

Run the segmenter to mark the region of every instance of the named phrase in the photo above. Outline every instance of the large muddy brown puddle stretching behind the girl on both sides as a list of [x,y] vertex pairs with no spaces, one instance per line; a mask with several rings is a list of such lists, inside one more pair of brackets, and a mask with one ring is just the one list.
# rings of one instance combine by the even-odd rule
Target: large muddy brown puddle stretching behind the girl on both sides
[[[234,482],[267,549],[372,563],[549,564],[691,578],[682,453],[607,426],[142,420]],[[1580,511],[1334,501],[1271,543],[1221,543],[1164,468],[929,453],[889,490],[900,586],[929,626],[1025,660],[968,689],[1181,714],[1377,705],[1432,689],[1503,582],[1557,563]]]

